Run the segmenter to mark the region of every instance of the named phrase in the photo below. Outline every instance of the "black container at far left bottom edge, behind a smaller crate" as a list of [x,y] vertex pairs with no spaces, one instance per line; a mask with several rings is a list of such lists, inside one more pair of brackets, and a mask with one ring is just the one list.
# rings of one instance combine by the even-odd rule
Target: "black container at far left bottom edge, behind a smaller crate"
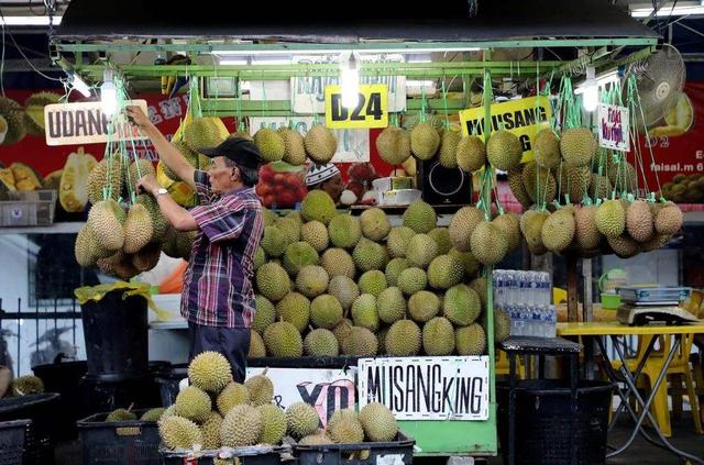
[[25,444],[25,463],[54,463],[54,420],[59,414],[59,398],[58,394],[43,392],[0,399],[0,422],[32,420],[30,441]]

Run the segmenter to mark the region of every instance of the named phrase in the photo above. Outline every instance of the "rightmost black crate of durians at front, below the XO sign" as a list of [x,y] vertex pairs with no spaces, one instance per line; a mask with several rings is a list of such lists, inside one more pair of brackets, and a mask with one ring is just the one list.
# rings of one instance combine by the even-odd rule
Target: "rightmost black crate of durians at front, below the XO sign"
[[[397,455],[403,463],[410,465],[414,461],[414,445],[416,441],[403,432],[398,432],[396,441],[392,442],[362,442],[358,444],[294,444],[294,455],[298,465],[372,465],[384,455]],[[359,454],[360,451],[369,451],[369,455]],[[360,458],[363,455],[364,458]],[[394,462],[398,463],[398,462]]]

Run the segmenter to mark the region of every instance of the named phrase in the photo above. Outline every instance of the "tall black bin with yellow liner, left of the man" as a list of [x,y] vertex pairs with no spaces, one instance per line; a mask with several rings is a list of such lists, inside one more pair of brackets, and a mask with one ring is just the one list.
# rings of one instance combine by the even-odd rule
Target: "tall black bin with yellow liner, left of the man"
[[123,295],[112,290],[81,306],[88,378],[118,381],[148,374],[146,299]]

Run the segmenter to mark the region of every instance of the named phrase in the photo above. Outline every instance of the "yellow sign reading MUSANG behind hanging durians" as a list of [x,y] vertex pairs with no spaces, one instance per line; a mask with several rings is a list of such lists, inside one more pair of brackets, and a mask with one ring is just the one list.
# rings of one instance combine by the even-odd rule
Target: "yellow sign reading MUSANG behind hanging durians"
[[[524,148],[522,162],[532,159],[532,142],[538,131],[552,118],[550,101],[546,97],[529,97],[493,103],[492,131],[506,130],[518,137]],[[484,107],[460,111],[462,135],[484,134]]]

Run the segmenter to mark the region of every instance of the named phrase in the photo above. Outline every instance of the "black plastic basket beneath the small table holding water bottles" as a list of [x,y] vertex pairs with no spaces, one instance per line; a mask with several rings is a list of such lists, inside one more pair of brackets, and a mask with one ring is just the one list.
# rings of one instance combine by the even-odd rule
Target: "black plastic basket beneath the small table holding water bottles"
[[[569,464],[572,442],[580,465],[605,464],[612,389],[608,383],[581,380],[573,416],[571,390],[563,381],[519,381],[514,442],[516,464]],[[508,463],[508,390],[506,383],[497,384],[498,434],[505,464]]]

